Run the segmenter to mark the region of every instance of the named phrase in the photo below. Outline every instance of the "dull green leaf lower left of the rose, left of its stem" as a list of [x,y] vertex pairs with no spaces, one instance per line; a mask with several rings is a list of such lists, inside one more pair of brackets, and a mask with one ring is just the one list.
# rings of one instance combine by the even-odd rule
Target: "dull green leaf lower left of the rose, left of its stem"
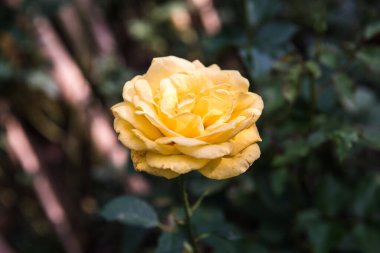
[[144,228],[157,227],[158,217],[145,201],[135,197],[119,197],[109,202],[100,213],[109,221],[119,221],[127,225]]

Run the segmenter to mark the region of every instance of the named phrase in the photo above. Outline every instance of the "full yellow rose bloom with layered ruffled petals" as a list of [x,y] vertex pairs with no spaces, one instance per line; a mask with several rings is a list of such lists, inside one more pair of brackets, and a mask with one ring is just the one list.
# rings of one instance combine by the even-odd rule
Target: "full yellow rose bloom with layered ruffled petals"
[[175,57],[153,59],[112,107],[119,140],[137,171],[168,179],[199,171],[212,179],[244,173],[260,157],[255,122],[263,101],[238,71]]

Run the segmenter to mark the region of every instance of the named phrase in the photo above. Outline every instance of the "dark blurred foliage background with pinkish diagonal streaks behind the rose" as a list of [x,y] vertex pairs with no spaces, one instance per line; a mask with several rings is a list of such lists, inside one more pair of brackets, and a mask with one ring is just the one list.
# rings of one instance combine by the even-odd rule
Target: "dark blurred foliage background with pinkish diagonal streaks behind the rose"
[[247,173],[189,175],[192,201],[211,190],[205,252],[380,252],[379,1],[4,0],[1,253],[154,252],[159,229],[98,212],[128,194],[173,224],[177,182],[133,171],[109,110],[164,55],[237,69],[265,102]]

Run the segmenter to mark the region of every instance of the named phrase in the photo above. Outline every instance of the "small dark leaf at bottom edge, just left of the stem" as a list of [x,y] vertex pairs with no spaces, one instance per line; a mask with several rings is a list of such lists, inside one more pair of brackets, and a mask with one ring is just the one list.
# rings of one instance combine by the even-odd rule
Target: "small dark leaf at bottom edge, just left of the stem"
[[178,232],[162,233],[155,253],[182,253],[184,236]]

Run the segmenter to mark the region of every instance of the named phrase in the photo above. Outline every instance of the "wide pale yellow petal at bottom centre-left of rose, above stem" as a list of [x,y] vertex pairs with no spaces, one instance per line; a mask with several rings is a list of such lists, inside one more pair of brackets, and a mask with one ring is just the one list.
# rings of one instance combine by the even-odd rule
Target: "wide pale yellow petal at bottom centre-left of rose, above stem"
[[187,155],[160,155],[153,152],[147,152],[146,162],[153,168],[166,169],[179,174],[184,174],[202,168],[209,162],[209,160],[197,159]]

